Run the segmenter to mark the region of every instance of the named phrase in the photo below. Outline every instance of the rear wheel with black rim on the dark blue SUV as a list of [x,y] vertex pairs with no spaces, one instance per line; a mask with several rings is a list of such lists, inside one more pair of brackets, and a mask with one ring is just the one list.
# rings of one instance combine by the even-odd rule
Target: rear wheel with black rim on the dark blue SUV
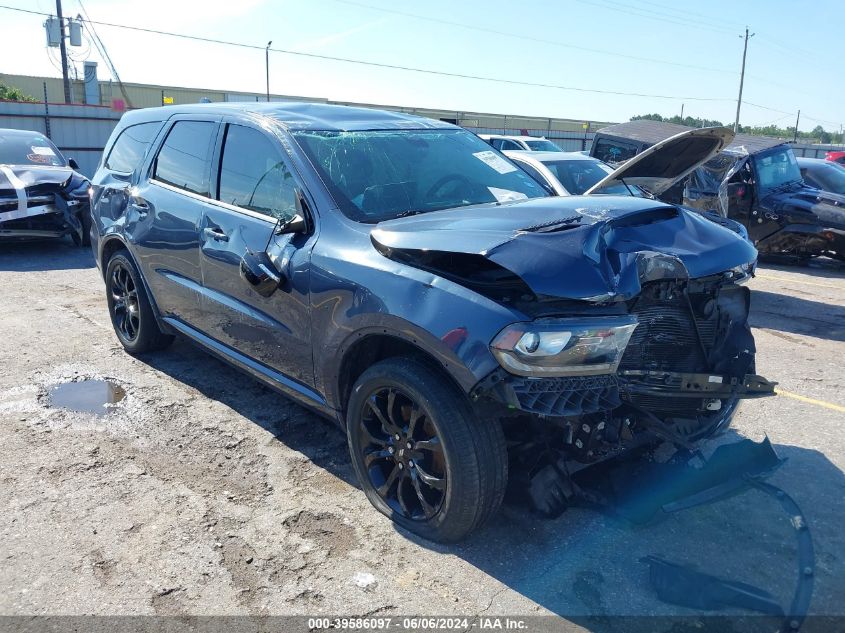
[[130,354],[164,349],[173,336],[158,327],[141,275],[124,250],[117,251],[106,267],[106,301],[115,334]]

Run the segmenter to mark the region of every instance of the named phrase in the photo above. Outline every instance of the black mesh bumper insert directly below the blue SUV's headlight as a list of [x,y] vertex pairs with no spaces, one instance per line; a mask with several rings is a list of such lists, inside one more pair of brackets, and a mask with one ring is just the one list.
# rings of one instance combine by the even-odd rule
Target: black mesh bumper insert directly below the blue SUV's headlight
[[621,404],[616,376],[513,376],[509,377],[506,387],[517,401],[514,404],[529,413],[553,416],[582,415],[614,409]]

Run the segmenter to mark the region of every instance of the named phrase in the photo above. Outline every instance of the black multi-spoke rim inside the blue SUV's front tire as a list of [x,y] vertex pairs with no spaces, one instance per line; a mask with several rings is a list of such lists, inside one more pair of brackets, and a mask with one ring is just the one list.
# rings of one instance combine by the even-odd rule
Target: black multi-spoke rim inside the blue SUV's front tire
[[443,446],[433,420],[403,391],[370,394],[360,420],[358,449],[373,489],[401,516],[427,521],[446,496]]

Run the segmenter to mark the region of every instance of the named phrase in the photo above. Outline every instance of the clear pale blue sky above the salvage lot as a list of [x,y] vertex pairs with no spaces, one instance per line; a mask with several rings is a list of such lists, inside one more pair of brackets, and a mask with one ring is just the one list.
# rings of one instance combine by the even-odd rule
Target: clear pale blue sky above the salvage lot
[[[684,104],[684,114],[733,122],[743,43],[739,35],[747,24],[756,35],[749,42],[741,122],[794,125],[800,108],[802,130],[821,124],[838,131],[845,123],[843,0],[82,1],[94,21],[262,48],[97,26],[121,78],[130,82],[263,92],[263,47],[272,40],[273,48],[317,55],[671,97],[522,86],[270,55],[274,93],[598,121],[679,114]],[[55,12],[54,0],[0,4]],[[81,11],[78,0],[63,0],[63,6],[66,16]],[[0,9],[0,72],[61,75],[56,50],[51,60],[45,46],[43,19]],[[81,60],[83,52],[76,49],[74,56]],[[89,59],[100,62],[100,78],[108,78],[93,48]]]

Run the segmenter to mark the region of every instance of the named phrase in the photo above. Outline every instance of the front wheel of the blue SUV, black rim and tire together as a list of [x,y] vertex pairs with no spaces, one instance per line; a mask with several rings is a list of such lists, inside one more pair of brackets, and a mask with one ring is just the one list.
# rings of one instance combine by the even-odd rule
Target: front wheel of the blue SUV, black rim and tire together
[[390,358],[367,369],[347,407],[352,464],[376,509],[403,528],[455,542],[498,510],[507,449],[498,420],[428,364]]

